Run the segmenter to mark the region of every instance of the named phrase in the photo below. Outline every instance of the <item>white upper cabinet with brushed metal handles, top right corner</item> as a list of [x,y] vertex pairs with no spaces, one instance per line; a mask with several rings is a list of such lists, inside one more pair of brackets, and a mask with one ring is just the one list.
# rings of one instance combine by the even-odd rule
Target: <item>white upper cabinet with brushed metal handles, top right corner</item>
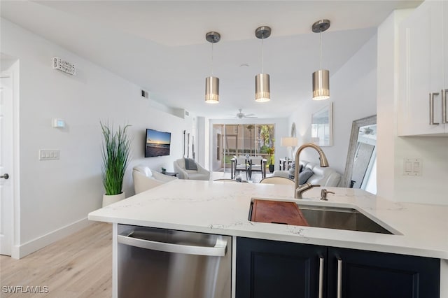
[[399,136],[448,134],[447,66],[448,2],[425,1],[399,27]]

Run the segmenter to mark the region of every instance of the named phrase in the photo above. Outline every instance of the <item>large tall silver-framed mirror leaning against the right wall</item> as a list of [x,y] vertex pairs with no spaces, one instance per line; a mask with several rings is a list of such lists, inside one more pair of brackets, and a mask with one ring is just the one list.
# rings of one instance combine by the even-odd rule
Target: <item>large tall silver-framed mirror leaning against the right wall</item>
[[354,120],[342,187],[377,192],[377,115]]

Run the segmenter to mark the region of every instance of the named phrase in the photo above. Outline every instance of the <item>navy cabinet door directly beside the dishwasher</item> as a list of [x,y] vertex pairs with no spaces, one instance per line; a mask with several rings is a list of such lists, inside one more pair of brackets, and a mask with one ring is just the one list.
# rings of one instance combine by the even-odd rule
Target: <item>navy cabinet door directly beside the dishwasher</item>
[[[238,238],[236,297],[316,298],[319,257],[326,254],[322,246]],[[325,268],[321,272],[325,297]]]

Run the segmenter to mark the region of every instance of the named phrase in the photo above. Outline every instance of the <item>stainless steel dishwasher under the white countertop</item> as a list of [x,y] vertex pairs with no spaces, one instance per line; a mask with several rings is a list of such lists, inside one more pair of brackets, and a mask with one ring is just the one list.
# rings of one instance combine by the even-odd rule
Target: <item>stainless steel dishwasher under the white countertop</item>
[[118,225],[118,297],[230,298],[232,237]]

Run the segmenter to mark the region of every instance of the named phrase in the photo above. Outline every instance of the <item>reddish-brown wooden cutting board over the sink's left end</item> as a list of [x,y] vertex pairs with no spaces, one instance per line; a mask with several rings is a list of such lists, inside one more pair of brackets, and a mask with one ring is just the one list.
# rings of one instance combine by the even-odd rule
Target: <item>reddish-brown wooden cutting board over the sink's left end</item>
[[304,218],[302,211],[292,201],[254,199],[251,220],[253,222],[308,226],[308,222]]

